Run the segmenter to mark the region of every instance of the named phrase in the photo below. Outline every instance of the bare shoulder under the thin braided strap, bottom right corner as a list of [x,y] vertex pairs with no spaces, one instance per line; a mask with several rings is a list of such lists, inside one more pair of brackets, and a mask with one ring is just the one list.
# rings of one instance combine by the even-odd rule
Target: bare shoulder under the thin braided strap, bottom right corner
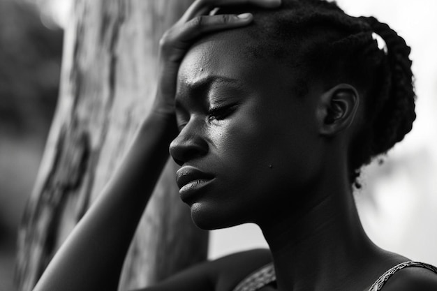
[[393,274],[383,291],[434,291],[437,290],[437,274],[423,267],[408,267]]

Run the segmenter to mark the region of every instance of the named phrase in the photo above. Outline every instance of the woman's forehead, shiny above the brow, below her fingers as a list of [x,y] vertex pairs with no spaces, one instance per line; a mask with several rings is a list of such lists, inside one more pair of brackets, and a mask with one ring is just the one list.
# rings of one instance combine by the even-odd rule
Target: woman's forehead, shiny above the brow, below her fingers
[[234,29],[214,33],[202,38],[187,52],[178,74],[178,88],[195,86],[202,80],[220,77],[221,80],[237,80],[246,85],[269,86],[281,82],[278,77],[290,73],[286,66],[268,57],[252,53],[257,42],[244,33],[244,29]]

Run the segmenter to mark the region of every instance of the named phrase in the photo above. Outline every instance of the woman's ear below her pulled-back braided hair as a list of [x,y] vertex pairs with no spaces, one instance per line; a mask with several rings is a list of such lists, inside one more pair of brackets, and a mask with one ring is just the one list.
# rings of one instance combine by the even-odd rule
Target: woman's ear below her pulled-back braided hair
[[357,89],[350,84],[338,84],[325,91],[318,100],[317,119],[321,135],[336,135],[352,123],[360,105]]

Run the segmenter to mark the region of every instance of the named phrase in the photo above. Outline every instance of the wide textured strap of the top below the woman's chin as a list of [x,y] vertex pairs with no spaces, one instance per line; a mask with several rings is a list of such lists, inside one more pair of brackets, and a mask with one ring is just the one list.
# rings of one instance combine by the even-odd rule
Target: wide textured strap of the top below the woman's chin
[[233,291],[255,291],[276,281],[273,263],[266,264],[241,281]]

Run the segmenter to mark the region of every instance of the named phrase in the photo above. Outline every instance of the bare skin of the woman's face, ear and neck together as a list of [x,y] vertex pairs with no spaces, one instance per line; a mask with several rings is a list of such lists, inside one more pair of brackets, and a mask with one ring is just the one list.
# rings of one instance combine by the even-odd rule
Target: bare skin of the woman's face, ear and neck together
[[214,34],[182,61],[170,154],[211,174],[182,200],[203,228],[260,225],[279,290],[365,290],[406,258],[371,243],[351,195],[346,152],[360,96],[313,82],[297,98],[289,68],[247,60],[250,41],[244,29]]

